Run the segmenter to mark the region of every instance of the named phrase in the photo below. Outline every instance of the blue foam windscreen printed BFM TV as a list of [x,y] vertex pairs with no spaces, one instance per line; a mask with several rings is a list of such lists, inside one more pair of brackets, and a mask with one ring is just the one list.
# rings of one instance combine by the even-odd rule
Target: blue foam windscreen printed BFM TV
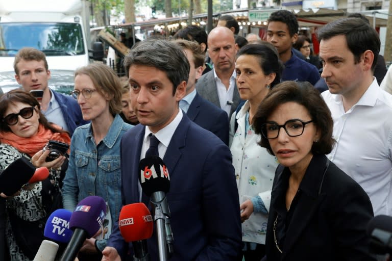
[[46,221],[43,236],[56,242],[68,243],[74,233],[69,228],[71,215],[72,212],[64,208],[54,211]]

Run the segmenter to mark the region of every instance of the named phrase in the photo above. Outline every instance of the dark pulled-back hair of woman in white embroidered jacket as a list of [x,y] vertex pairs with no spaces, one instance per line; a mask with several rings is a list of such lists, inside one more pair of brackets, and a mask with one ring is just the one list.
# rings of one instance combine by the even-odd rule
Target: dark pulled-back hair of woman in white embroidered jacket
[[280,83],[283,65],[276,52],[271,47],[263,44],[248,44],[239,49],[237,58],[241,55],[257,57],[265,75],[273,72],[276,74],[274,81],[269,85],[271,89]]

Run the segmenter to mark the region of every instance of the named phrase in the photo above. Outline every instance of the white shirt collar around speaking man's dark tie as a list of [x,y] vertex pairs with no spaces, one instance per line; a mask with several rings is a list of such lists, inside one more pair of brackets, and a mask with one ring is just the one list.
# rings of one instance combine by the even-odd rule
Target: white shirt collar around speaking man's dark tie
[[[173,134],[176,131],[183,117],[182,110],[178,110],[178,111],[179,112],[173,121],[171,121],[167,126],[160,129],[157,133],[153,133],[160,142],[158,145],[158,151],[159,151],[159,156],[162,159],[165,155],[167,147],[169,146],[171,137],[173,137]],[[150,128],[148,128],[148,126],[145,126],[144,139],[143,139],[143,143],[144,143],[143,147],[146,148],[145,151],[150,145],[150,137],[149,137],[150,133],[152,133],[150,131]],[[142,152],[142,155],[145,155],[145,151]]]

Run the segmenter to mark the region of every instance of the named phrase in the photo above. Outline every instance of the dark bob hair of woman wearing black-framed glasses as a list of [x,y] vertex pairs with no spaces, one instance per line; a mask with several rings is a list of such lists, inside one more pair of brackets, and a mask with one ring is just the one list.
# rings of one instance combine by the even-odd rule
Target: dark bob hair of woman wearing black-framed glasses
[[335,145],[335,140],[332,138],[333,120],[331,112],[320,93],[308,82],[282,82],[267,94],[263,102],[260,103],[252,122],[255,133],[261,136],[258,144],[274,155],[268,140],[261,135],[262,125],[267,122],[269,115],[278,106],[290,101],[297,102],[305,107],[313,120],[313,124],[321,131],[318,141],[313,142],[311,148],[313,155],[330,153]]

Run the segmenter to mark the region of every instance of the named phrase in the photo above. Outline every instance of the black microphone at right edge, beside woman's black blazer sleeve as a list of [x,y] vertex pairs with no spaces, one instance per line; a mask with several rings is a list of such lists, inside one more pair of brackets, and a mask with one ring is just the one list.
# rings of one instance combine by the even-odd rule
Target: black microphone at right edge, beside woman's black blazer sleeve
[[367,224],[370,251],[375,254],[392,254],[392,217],[379,215]]

